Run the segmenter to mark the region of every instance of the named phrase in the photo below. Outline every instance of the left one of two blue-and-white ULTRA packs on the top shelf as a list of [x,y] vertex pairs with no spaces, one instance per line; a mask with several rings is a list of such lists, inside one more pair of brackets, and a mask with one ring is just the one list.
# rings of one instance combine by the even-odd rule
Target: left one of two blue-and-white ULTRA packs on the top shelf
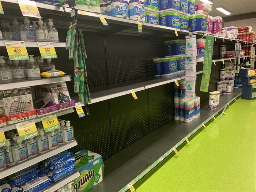
[[111,0],[111,15],[129,18],[128,2],[126,0]]

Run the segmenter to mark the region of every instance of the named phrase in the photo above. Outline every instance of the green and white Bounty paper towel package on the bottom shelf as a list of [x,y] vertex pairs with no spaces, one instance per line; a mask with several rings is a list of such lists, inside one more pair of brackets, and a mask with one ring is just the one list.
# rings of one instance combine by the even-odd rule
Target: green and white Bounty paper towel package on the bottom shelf
[[72,185],[75,192],[86,192],[103,180],[103,160],[101,155],[86,149],[73,155],[76,160],[75,168],[81,173],[74,179]]

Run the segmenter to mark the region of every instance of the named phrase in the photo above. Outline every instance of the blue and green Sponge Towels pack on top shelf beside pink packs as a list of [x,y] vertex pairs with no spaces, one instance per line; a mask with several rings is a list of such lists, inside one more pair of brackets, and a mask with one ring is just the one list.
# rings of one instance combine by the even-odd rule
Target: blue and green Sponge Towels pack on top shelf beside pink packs
[[207,31],[207,16],[204,14],[196,14],[189,16],[189,27],[192,31]]

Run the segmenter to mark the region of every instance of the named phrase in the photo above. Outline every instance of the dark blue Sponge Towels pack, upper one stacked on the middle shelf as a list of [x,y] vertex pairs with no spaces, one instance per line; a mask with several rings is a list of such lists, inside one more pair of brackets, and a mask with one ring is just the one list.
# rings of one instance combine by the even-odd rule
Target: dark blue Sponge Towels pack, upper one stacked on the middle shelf
[[165,41],[165,56],[185,54],[186,40]]

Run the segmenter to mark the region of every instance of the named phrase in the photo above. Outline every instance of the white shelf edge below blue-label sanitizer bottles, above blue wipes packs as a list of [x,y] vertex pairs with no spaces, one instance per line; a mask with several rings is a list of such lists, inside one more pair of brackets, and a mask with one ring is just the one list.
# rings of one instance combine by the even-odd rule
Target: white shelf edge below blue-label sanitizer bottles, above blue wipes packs
[[65,151],[71,147],[74,147],[77,145],[77,141],[74,140],[73,142],[70,142],[70,143],[66,143],[64,145],[61,145],[55,149],[52,149],[44,154],[39,154],[37,155],[36,157],[34,158],[30,158],[28,160],[26,160],[25,162],[22,162],[22,163],[17,163],[16,165],[14,166],[11,166],[10,168],[7,167],[5,168],[4,170],[2,170],[0,172],[0,179],[1,178],[4,178],[4,177],[7,177],[13,173],[16,173],[22,169],[25,169],[26,167],[29,167],[30,165],[34,165],[35,163],[38,163],[44,159],[47,159],[49,157],[52,157],[53,155],[56,155],[57,153],[60,153],[62,151]]

